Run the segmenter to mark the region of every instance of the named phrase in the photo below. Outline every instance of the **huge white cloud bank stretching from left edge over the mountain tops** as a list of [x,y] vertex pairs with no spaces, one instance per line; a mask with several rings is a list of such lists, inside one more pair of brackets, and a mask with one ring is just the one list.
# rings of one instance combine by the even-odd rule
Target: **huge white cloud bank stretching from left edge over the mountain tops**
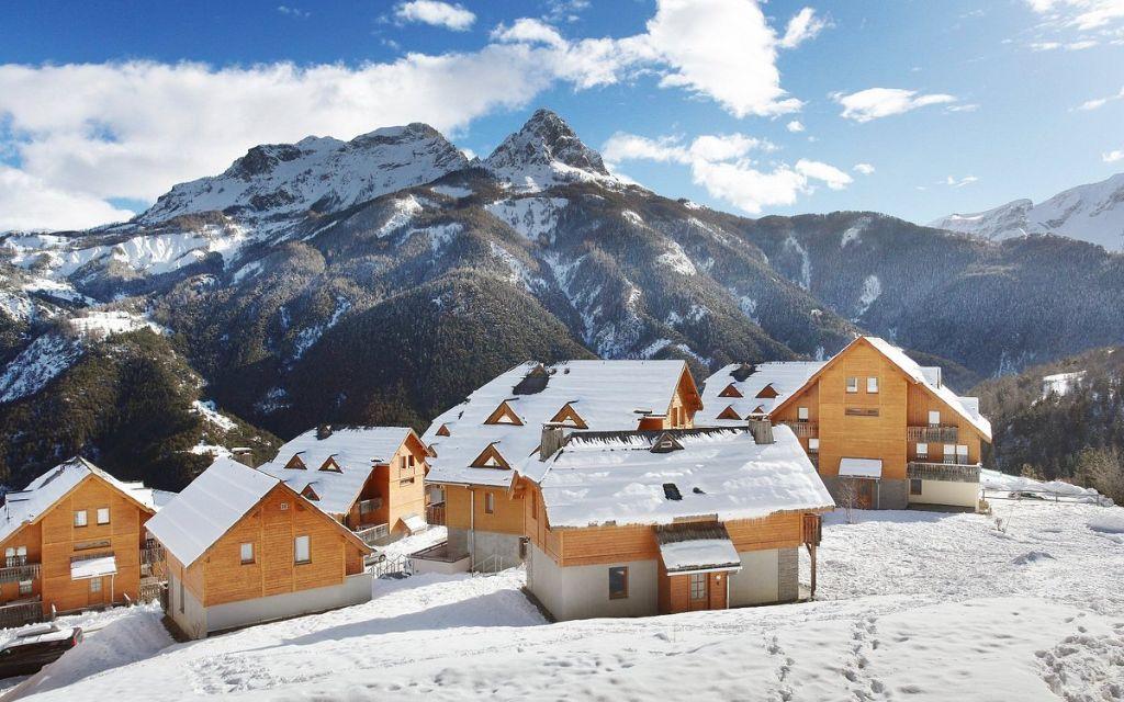
[[[456,9],[397,7],[422,17],[435,4]],[[529,18],[495,37],[478,51],[360,65],[3,64],[0,121],[16,137],[0,148],[54,191],[153,200],[256,144],[411,121],[455,131],[558,83],[584,90],[655,74],[737,117],[800,107],[780,86],[777,35],[753,0],[659,0],[646,31],[631,37],[566,39]]]

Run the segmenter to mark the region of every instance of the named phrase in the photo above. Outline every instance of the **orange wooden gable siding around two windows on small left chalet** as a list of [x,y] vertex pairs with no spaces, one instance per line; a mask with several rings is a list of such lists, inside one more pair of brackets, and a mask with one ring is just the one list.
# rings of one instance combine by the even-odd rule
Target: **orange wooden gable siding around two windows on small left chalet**
[[[309,563],[294,563],[293,541],[309,537]],[[242,544],[254,545],[254,562],[242,563]],[[362,572],[363,551],[341,527],[283,485],[232,527],[189,568],[202,565],[205,607],[336,585]],[[189,586],[191,583],[189,582]],[[197,595],[199,591],[192,586]]]

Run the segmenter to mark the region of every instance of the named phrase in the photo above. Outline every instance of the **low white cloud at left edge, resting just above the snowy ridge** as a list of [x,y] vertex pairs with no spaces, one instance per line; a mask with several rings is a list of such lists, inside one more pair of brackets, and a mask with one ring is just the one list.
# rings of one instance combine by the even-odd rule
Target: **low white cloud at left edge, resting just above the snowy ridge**
[[132,217],[133,212],[105,200],[57,190],[34,175],[0,165],[0,231],[85,229]]

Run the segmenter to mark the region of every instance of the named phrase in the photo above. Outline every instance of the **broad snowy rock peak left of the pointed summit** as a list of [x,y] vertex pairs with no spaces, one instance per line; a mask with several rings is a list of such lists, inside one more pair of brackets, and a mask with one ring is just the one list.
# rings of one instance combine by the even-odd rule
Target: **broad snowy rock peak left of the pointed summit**
[[138,221],[153,225],[212,210],[250,220],[338,210],[466,165],[460,149],[418,122],[351,142],[310,136],[296,144],[263,144],[219,175],[175,185]]

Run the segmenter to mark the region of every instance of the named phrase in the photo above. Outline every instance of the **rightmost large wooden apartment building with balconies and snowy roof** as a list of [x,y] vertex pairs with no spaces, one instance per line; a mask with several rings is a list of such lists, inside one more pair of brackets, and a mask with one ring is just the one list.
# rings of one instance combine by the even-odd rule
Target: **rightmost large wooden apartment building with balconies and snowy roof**
[[941,370],[859,337],[825,363],[735,364],[706,383],[699,423],[768,417],[787,425],[836,502],[975,509],[991,425]]

